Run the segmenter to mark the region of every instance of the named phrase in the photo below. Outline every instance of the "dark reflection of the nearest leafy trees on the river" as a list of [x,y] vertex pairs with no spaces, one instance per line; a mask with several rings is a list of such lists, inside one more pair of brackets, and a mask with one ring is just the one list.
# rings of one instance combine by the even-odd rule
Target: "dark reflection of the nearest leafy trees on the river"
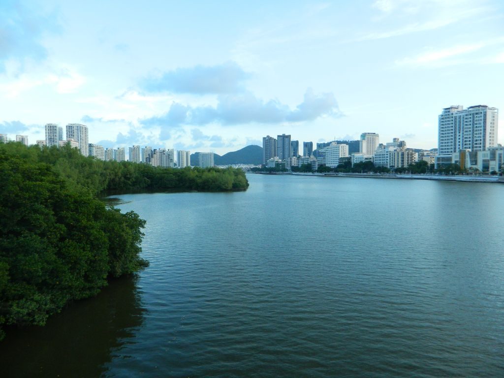
[[143,323],[136,281],[111,280],[96,298],[72,303],[45,327],[8,329],[0,343],[0,375],[100,376],[113,351],[134,342]]

